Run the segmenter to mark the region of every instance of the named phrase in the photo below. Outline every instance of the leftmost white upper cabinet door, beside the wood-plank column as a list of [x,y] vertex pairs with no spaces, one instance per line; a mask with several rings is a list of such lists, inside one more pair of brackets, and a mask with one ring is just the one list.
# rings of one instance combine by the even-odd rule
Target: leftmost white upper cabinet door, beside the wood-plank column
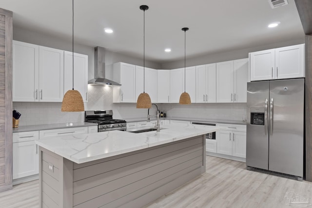
[[39,46],[13,40],[13,101],[38,101]]

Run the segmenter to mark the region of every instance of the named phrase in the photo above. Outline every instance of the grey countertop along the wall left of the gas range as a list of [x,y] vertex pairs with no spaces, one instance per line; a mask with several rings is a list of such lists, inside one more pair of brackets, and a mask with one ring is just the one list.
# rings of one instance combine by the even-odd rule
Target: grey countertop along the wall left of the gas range
[[40,131],[40,130],[49,130],[49,129],[64,129],[64,128],[74,128],[74,127],[88,127],[88,126],[98,126],[98,124],[89,123],[89,122],[78,122],[78,123],[19,126],[19,128],[13,128],[13,133],[31,132],[31,131]]

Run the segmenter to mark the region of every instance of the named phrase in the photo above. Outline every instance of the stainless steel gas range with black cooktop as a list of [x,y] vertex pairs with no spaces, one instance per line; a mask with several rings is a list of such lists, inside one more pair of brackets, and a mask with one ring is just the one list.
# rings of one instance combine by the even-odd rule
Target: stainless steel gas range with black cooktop
[[127,122],[125,120],[113,119],[113,110],[85,111],[84,115],[85,122],[98,124],[98,132],[127,130]]

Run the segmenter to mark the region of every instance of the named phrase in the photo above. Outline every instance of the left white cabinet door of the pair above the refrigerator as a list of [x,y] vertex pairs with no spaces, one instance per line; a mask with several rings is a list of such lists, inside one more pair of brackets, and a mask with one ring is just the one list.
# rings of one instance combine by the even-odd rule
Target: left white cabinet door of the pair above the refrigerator
[[249,58],[251,81],[275,78],[275,49],[250,53]]

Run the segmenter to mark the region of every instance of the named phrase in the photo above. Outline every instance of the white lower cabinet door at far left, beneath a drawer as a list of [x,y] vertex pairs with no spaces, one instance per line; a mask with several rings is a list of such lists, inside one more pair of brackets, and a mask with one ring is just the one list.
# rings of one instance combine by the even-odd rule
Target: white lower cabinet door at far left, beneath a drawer
[[13,143],[13,179],[39,173],[39,154],[35,141]]

